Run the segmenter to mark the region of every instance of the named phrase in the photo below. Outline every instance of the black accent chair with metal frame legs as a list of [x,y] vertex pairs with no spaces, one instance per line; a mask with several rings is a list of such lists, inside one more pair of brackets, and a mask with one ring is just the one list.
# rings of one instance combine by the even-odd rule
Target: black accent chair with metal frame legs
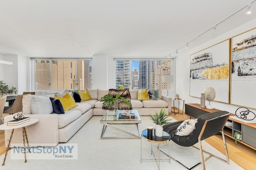
[[[175,160],[174,158],[172,158],[172,157],[171,158],[174,161],[178,162],[180,165],[182,165],[184,168],[187,168],[189,170],[196,168],[200,164],[203,164],[203,167],[205,170],[204,161],[208,160],[208,158],[210,158],[212,156],[229,164],[228,150],[226,147],[226,141],[225,141],[225,136],[224,136],[224,132],[223,132],[223,128],[224,128],[229,116],[230,116],[230,113],[228,113],[227,111],[216,111],[214,113],[207,113],[207,114],[201,115],[198,117],[198,121],[196,123],[196,129],[194,129],[194,131],[192,131],[192,133],[188,136],[175,135],[176,129],[183,121],[176,121],[176,122],[173,122],[170,124],[165,124],[163,126],[164,131],[166,131],[170,134],[171,140],[174,141],[176,144],[181,145],[183,147],[190,147],[199,142],[199,146],[200,146],[199,149],[201,152],[202,162],[196,164],[192,168],[188,168],[188,167],[184,166],[183,164],[181,164],[180,162],[178,162],[177,160]],[[201,141],[204,139],[207,139],[208,137],[216,135],[220,132],[222,133],[222,139],[223,139],[224,148],[226,151],[226,159],[227,160],[223,160],[222,158],[219,158],[218,156],[215,156],[213,154],[210,154],[209,152],[206,152],[205,150],[202,150]],[[161,150],[161,151],[164,152],[163,150]],[[210,154],[210,156],[208,158],[206,158],[205,160],[204,160],[203,152]],[[168,155],[166,152],[164,152],[164,153],[166,155]]]

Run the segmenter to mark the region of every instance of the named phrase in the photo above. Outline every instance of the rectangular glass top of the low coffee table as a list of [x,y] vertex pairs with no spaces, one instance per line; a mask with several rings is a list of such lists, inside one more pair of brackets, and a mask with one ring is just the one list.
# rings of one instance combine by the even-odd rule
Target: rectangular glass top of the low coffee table
[[118,110],[117,115],[114,114],[113,110],[106,110],[106,113],[103,115],[100,121],[129,121],[129,116],[125,117],[126,119],[120,118],[122,113],[129,113],[134,115],[134,118],[132,117],[130,121],[141,121],[138,110]]

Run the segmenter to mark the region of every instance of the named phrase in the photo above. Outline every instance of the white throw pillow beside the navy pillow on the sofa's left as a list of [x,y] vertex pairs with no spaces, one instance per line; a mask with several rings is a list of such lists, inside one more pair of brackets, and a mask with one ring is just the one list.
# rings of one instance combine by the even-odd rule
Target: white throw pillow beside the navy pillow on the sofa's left
[[52,102],[46,96],[34,96],[31,100],[32,114],[51,114],[53,112]]

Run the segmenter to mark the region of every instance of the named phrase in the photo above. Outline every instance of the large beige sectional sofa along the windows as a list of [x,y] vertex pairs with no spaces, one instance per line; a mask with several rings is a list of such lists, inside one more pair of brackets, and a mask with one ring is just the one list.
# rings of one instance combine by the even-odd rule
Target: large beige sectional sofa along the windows
[[[82,90],[81,90],[82,91]],[[93,115],[103,115],[106,110],[102,109],[103,102],[100,99],[108,94],[108,90],[88,90],[92,100],[82,101],[65,114],[30,114],[31,118],[39,121],[34,125],[26,127],[28,141],[31,147],[45,146],[55,147],[58,143],[66,143]],[[162,95],[159,90],[159,100],[137,100],[138,90],[130,90],[132,108],[138,110],[140,115],[154,114],[165,107],[171,112],[172,98]],[[24,107],[23,107],[24,108]],[[4,122],[13,119],[12,115],[4,117]],[[5,146],[7,147],[11,130],[5,131]],[[15,129],[12,143],[16,146],[23,146],[22,128]]]

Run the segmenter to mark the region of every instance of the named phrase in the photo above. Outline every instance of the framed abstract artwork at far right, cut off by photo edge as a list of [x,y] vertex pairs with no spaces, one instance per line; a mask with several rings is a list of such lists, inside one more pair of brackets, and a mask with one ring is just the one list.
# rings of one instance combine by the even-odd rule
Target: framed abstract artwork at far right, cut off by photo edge
[[230,104],[256,109],[256,27],[232,37]]

